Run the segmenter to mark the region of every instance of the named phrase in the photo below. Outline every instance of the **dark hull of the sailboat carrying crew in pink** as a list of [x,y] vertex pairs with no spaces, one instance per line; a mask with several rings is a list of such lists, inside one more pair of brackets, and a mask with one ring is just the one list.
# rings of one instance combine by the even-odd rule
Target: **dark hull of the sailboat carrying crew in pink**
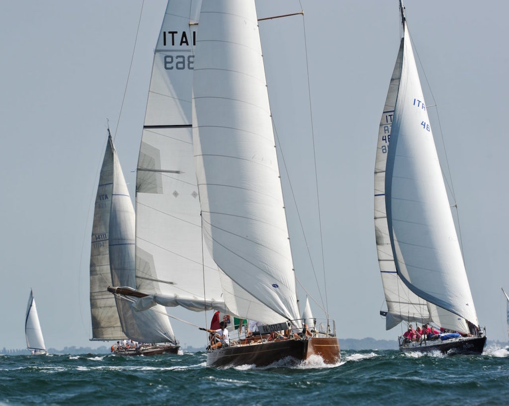
[[421,341],[400,345],[403,352],[430,352],[439,351],[442,354],[482,354],[486,344],[486,336],[459,337],[449,340]]

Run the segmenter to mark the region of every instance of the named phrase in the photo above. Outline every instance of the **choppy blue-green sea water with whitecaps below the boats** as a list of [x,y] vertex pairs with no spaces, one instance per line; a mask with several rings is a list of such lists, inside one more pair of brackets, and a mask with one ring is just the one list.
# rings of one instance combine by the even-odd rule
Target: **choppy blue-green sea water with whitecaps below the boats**
[[209,368],[205,352],[151,357],[0,355],[0,405],[509,404],[509,351],[342,351],[258,368]]

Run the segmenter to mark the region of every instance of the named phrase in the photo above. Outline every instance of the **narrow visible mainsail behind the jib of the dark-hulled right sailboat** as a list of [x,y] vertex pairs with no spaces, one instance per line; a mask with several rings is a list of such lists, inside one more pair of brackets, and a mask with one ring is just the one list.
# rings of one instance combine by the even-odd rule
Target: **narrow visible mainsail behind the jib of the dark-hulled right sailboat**
[[402,321],[430,322],[426,300],[410,291],[398,276],[385,212],[385,166],[390,141],[394,106],[400,87],[401,68],[403,64],[403,39],[387,91],[387,99],[380,120],[378,131],[377,156],[375,161],[375,239],[377,244],[378,265],[387,303],[385,327],[387,330]]

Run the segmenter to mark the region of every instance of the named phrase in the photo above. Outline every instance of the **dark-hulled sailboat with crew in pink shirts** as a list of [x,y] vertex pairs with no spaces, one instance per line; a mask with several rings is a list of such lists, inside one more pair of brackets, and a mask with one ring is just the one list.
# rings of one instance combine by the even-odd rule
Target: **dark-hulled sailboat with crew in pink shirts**
[[[375,163],[375,236],[387,330],[401,322],[441,328],[402,351],[482,353],[465,265],[400,0],[403,37],[380,121]],[[390,144],[389,144],[390,141]],[[450,338],[454,337],[454,338]]]

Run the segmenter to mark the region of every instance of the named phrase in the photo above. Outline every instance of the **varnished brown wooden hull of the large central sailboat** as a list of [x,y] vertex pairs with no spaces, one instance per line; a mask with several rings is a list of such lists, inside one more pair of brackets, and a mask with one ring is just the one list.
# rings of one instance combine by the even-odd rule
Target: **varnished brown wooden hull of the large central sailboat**
[[219,348],[207,354],[207,366],[266,366],[287,357],[294,358],[297,362],[304,361],[312,355],[322,357],[326,364],[340,361],[340,344],[337,338],[274,340]]

